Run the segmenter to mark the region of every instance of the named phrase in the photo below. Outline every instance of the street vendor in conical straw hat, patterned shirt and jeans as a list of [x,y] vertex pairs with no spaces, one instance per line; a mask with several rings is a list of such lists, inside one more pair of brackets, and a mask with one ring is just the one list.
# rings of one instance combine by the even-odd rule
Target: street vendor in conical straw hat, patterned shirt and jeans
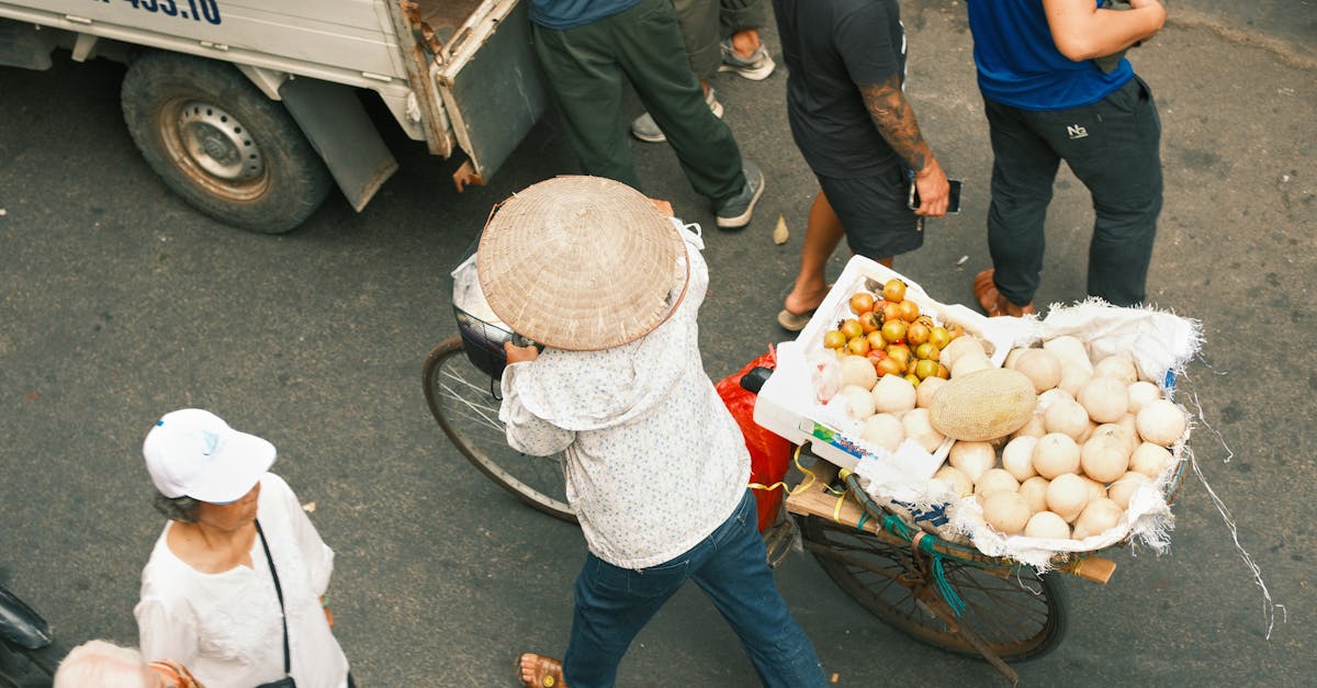
[[518,451],[565,453],[590,550],[566,655],[523,654],[523,685],[614,685],[631,641],[687,580],[765,685],[824,685],[765,563],[744,439],[701,361],[702,248],[640,192],[594,177],[516,194],[481,237],[490,308],[543,345],[506,345],[499,419]]

